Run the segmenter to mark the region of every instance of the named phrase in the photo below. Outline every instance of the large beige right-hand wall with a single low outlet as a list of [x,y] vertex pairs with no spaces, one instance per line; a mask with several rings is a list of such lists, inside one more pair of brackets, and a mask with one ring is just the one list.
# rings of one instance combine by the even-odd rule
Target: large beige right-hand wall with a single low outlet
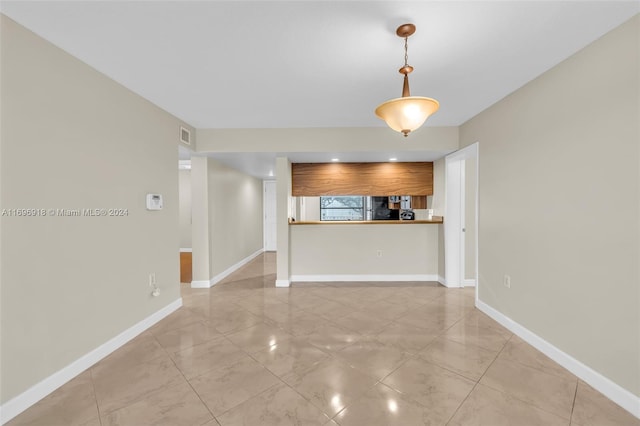
[[460,131],[480,146],[480,299],[635,395],[639,27],[636,16]]

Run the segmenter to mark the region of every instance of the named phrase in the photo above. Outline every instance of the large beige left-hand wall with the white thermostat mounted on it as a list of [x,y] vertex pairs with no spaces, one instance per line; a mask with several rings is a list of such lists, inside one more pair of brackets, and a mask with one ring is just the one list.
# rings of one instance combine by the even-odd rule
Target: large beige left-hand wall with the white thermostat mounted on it
[[[1,17],[2,403],[179,299],[178,119]],[[145,195],[160,193],[162,211]],[[149,273],[161,290],[152,297]]]

